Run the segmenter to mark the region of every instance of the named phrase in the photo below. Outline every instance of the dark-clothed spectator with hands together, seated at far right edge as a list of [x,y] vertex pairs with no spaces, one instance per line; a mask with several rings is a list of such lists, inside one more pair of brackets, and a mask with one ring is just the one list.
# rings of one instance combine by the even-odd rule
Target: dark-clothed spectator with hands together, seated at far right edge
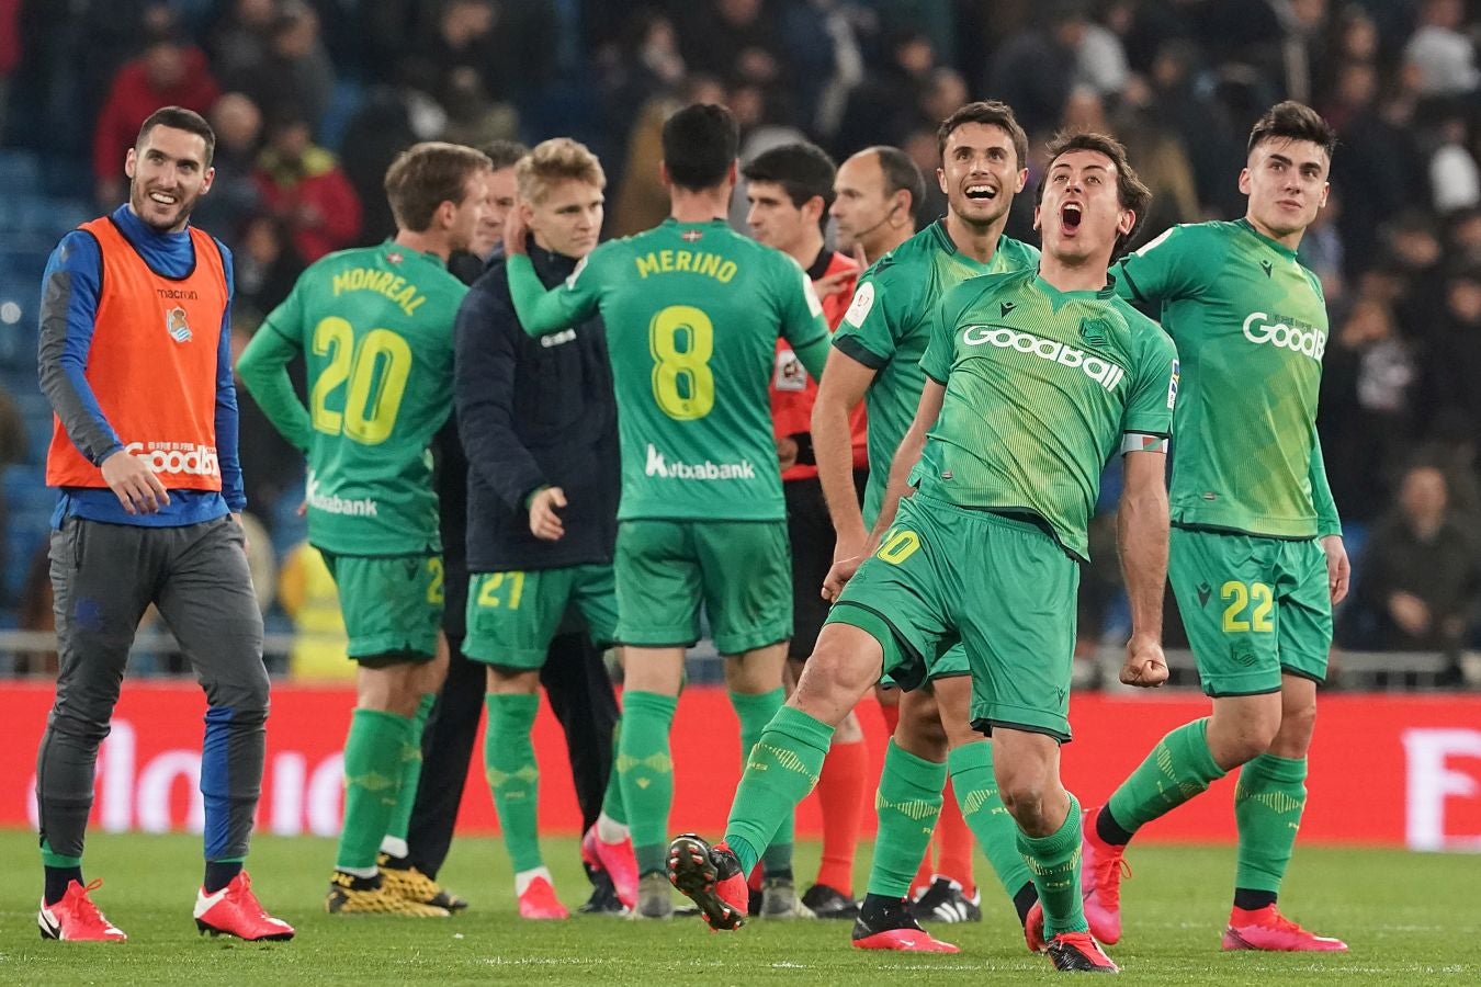
[[1477,616],[1481,558],[1448,511],[1445,475],[1411,468],[1398,508],[1373,533],[1357,567],[1357,602],[1386,651],[1451,651]]

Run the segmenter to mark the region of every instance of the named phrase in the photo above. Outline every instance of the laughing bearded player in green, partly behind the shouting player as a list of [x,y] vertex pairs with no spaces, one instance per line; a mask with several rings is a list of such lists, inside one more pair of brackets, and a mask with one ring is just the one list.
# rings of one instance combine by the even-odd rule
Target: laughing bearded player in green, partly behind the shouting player
[[[1001,102],[967,104],[942,121],[936,141],[946,216],[860,278],[813,405],[813,447],[837,530],[835,561],[862,553],[868,527],[878,516],[887,465],[909,429],[926,382],[920,358],[940,297],[967,278],[1038,263],[1038,250],[1003,235],[1013,195],[1028,179],[1028,138],[1013,111]],[[872,466],[862,512],[847,419],[859,401],[869,413]],[[991,746],[972,730],[972,678],[963,648],[935,663],[929,685],[923,685],[900,695],[900,722],[884,756],[874,863],[853,929],[859,949],[918,950],[929,941],[900,901],[930,845],[948,772],[960,806],[952,811],[967,818],[1020,922],[1037,900],[1013,845],[1012,821],[1001,812]],[[923,806],[929,809],[924,815]]]

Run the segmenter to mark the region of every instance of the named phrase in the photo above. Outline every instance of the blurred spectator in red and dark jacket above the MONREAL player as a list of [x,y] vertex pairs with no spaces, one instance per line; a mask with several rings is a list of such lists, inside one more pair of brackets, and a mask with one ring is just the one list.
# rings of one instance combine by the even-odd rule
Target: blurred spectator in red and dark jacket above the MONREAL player
[[304,263],[348,247],[360,235],[360,197],[335,155],[312,142],[302,115],[286,114],[268,129],[256,183]]

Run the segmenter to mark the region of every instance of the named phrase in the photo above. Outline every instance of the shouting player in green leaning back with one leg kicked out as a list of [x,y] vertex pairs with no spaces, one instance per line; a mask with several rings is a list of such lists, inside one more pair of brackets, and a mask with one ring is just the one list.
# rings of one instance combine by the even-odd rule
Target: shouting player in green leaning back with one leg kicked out
[[[1003,804],[1046,913],[1044,938],[1031,946],[1057,969],[1115,971],[1081,912],[1080,806],[1059,781],[1059,744],[1069,740],[1077,561],[1102,468],[1117,451],[1131,602],[1123,681],[1167,679],[1164,453],[1177,354],[1106,275],[1149,198],[1114,139],[1056,139],[1035,209],[1038,268],[973,278],[936,306],[921,358],[927,380],[872,555],[829,573],[835,605],[792,698],[751,755],[724,842],[686,835],[671,845],[671,876],[712,928],[740,923],[745,867],[815,781],[843,715],[881,670],[920,682],[960,641],[973,725],[991,731]],[[908,487],[915,493],[902,500]]]

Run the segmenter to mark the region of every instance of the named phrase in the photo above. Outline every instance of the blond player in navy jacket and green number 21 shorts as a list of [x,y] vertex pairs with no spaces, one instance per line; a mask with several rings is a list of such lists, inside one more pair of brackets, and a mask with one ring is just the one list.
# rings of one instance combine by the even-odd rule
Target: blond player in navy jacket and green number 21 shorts
[[[567,138],[538,145],[515,176],[536,272],[557,286],[597,246],[607,179],[597,157]],[[569,913],[541,857],[530,730],[541,667],[567,610],[581,613],[597,647],[618,629],[618,420],[601,321],[532,339],[496,260],[458,312],[456,395],[472,471],[464,650],[487,667],[486,777],[520,914],[563,919]],[[632,907],[637,870],[616,787],[609,784],[588,843]]]

